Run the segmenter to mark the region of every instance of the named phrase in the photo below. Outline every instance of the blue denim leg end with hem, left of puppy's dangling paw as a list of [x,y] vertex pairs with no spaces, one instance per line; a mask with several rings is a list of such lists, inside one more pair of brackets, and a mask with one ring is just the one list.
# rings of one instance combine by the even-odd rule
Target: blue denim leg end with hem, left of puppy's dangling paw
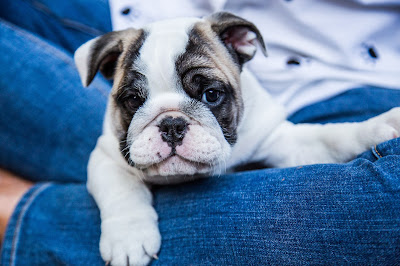
[[39,183],[11,218],[0,265],[104,265],[99,238],[99,211],[85,185]]

